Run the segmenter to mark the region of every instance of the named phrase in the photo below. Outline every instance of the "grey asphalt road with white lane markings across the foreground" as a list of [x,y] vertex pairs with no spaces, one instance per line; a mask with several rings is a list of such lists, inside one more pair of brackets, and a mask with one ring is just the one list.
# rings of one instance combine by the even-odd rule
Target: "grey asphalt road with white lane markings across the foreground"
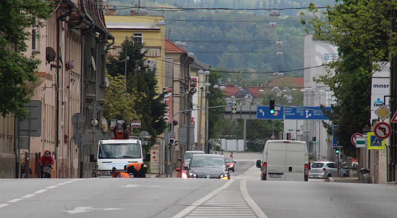
[[396,218],[397,186],[260,181],[236,160],[231,180],[1,179],[0,218]]

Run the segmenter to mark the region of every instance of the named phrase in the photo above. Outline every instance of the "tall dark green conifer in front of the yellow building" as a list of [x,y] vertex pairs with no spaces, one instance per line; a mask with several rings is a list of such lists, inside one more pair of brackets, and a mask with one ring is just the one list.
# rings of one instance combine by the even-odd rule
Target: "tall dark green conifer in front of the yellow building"
[[134,110],[141,120],[140,130],[148,131],[152,136],[151,142],[154,143],[155,136],[163,133],[166,128],[164,121],[166,104],[163,103],[165,93],[157,92],[156,69],[145,64],[146,52],[141,52],[143,45],[134,44],[130,38],[123,42],[122,48],[118,60],[109,56],[108,73],[112,76],[124,75],[125,62],[122,60],[126,59],[126,56],[130,57],[127,61],[127,92],[135,98],[139,95]]

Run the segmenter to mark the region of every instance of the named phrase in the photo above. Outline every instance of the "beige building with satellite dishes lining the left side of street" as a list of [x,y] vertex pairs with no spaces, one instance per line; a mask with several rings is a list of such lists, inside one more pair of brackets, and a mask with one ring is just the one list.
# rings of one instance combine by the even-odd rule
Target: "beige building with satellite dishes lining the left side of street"
[[[42,107],[41,134],[30,138],[28,149],[27,143],[13,140],[15,135],[18,137],[19,131],[14,131],[12,115],[0,117],[0,178],[19,177],[16,171],[18,168],[20,171],[20,165],[25,164],[25,154],[28,152],[29,168],[32,170],[29,177],[37,177],[40,174],[38,158],[45,150],[49,150],[56,160],[52,177],[92,176],[93,164],[88,161],[89,155],[95,154],[100,138],[90,141],[90,137],[85,137],[84,146],[80,146],[85,149],[81,152],[83,158],[79,159],[71,117],[79,112],[84,114],[86,133],[87,129],[93,128],[89,124],[93,117],[89,105],[93,101],[100,105],[104,103],[106,86],[102,63],[107,53],[107,40],[112,37],[105,28],[99,8],[101,5],[95,0],[55,3],[51,18],[36,18],[36,22],[45,25],[33,26],[29,30],[31,38],[27,42],[29,47],[25,55],[34,54],[41,60],[36,72],[38,80],[27,84],[33,91],[31,100],[39,101]],[[84,87],[81,87],[82,83]],[[96,118],[100,119],[101,111],[97,114]],[[16,119],[16,126],[18,123]],[[80,163],[84,164],[83,167],[79,166]]]

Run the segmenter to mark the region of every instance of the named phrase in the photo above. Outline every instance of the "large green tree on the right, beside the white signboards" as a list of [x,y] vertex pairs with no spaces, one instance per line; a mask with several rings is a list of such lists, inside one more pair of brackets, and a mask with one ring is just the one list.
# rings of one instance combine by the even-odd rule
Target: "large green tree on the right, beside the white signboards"
[[[370,125],[371,73],[374,61],[387,60],[396,55],[397,34],[391,31],[390,8],[396,1],[344,0],[343,3],[320,12],[309,5],[310,19],[304,19],[308,31],[316,39],[337,46],[339,59],[329,65],[325,76],[315,80],[328,85],[336,97],[336,104],[328,113],[338,129],[333,133],[346,155],[355,157],[350,137]],[[306,22],[308,21],[308,22]],[[328,126],[331,134],[331,126]]]

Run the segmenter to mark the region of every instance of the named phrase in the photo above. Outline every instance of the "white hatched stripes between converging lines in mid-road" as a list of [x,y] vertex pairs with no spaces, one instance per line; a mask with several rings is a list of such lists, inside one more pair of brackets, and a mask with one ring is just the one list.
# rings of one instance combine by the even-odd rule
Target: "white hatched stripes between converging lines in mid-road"
[[185,218],[257,218],[240,190],[222,190]]

